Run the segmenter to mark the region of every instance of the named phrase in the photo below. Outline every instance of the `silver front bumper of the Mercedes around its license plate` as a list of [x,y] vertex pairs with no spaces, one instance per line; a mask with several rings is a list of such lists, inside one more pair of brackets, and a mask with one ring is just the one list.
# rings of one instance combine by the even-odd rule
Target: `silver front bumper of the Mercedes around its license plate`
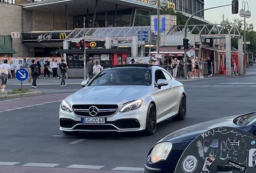
[[[83,124],[82,117],[74,112],[66,112],[60,108],[59,122],[62,131],[142,131],[145,130],[148,105],[142,104],[140,108],[121,113],[118,111],[111,116],[105,116],[105,124]],[[92,118],[92,117],[90,117]],[[95,117],[103,118],[103,117]]]

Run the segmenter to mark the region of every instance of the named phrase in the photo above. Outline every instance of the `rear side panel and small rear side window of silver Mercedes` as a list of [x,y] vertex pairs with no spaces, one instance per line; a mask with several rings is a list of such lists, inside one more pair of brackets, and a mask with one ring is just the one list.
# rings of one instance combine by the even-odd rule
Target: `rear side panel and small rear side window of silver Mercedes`
[[[163,71],[163,74],[165,75],[166,80],[168,80],[169,84],[169,90],[166,90],[165,95],[168,95],[167,101],[165,102],[165,107],[168,108],[168,113],[171,113],[174,110],[175,106],[180,103],[180,96],[179,96],[179,85],[177,85],[177,81],[170,76],[169,73]],[[174,112],[173,112],[174,113]]]

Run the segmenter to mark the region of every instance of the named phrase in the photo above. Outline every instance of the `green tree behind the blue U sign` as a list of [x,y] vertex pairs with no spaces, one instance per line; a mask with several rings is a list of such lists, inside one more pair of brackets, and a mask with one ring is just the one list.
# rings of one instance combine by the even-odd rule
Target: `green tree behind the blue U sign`
[[[160,14],[176,15],[177,16],[177,25],[185,25],[187,22],[187,19],[181,12],[179,12],[177,10],[174,11],[172,8],[167,8],[167,7],[161,8]],[[152,11],[149,13],[149,15],[157,15],[157,11]],[[189,21],[188,24],[194,25],[195,23],[193,21]],[[139,25],[140,26],[150,26],[150,16],[148,16],[145,20],[140,22]]]

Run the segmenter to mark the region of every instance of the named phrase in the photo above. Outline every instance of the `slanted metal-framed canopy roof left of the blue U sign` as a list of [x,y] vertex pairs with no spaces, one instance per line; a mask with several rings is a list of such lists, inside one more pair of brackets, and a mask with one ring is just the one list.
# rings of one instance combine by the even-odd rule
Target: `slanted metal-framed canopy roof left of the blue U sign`
[[122,38],[137,36],[138,31],[150,31],[150,26],[124,26],[124,27],[110,27],[110,28],[76,28],[74,29],[66,39],[81,38],[85,36],[91,36],[92,38]]

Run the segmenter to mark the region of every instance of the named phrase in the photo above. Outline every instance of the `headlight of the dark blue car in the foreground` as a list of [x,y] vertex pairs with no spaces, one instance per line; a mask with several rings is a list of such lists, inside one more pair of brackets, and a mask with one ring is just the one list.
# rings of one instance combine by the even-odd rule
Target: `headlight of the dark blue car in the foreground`
[[151,162],[157,163],[161,160],[166,160],[172,148],[172,144],[170,142],[162,142],[153,148],[150,153]]

